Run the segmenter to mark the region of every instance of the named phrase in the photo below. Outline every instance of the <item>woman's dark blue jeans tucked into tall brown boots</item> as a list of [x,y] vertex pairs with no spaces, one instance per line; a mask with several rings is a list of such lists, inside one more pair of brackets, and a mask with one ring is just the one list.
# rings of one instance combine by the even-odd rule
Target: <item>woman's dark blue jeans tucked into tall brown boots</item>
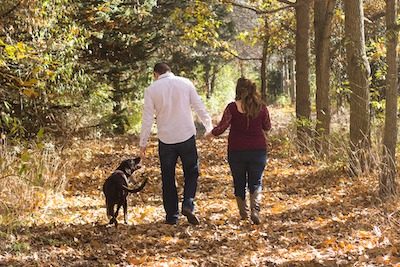
[[250,194],[261,191],[266,161],[266,150],[228,151],[235,196],[245,199],[246,185]]

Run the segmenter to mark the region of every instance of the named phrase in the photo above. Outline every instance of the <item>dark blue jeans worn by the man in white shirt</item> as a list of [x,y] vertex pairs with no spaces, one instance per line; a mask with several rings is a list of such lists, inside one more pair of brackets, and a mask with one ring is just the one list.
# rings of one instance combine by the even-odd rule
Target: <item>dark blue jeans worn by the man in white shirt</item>
[[165,144],[158,140],[158,154],[161,164],[163,204],[166,220],[177,220],[178,192],[175,183],[175,167],[178,157],[181,159],[184,176],[184,191],[182,208],[191,211],[194,209],[194,197],[197,189],[197,178],[199,177],[199,164],[194,136],[177,144]]

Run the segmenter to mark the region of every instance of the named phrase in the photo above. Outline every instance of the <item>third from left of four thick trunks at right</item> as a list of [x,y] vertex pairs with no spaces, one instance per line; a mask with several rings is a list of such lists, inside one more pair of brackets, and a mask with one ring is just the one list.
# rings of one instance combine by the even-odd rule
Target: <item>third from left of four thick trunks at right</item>
[[365,52],[362,0],[344,1],[347,75],[350,97],[350,170],[359,175],[367,170],[370,145],[370,67]]

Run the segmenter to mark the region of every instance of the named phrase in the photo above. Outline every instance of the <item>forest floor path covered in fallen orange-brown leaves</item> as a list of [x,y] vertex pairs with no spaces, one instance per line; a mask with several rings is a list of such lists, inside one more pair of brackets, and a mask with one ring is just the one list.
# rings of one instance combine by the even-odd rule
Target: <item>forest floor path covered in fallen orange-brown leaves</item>
[[122,159],[138,155],[137,140],[76,140],[65,151],[66,190],[24,226],[12,232],[0,226],[0,265],[400,266],[400,205],[379,200],[373,177],[349,178],[343,168],[290,152],[286,139],[270,138],[261,225],[239,220],[222,137],[197,142],[200,225],[184,217],[176,226],[164,224],[152,141],[146,166],[133,177],[149,182],[129,196],[129,224],[121,216],[118,228],[107,225],[101,188]]

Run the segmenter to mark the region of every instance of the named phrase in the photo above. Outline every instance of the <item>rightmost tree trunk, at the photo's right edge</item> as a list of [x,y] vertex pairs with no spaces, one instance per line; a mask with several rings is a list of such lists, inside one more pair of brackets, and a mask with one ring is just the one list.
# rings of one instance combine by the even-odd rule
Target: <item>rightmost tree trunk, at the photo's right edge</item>
[[385,130],[383,135],[383,162],[380,175],[379,193],[382,197],[393,196],[396,188],[396,143],[397,143],[397,40],[395,30],[397,19],[397,1],[386,0],[386,109]]

